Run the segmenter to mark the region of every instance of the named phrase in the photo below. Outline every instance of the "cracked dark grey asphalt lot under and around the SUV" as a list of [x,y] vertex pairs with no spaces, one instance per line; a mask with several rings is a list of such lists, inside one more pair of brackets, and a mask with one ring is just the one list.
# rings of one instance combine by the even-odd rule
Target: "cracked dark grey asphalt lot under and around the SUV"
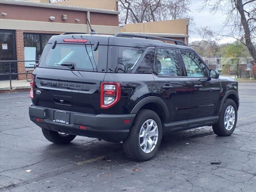
[[134,162],[121,143],[48,142],[29,120],[29,93],[0,94],[0,190],[256,192],[256,83],[239,83],[239,95],[231,136],[208,126],[177,132],[163,137],[154,159]]

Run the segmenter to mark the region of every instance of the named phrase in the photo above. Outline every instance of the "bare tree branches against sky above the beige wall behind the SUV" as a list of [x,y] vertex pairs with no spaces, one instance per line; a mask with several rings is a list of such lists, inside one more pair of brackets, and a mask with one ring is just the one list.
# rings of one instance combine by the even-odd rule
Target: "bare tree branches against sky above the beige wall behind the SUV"
[[119,0],[120,24],[189,18],[190,0]]

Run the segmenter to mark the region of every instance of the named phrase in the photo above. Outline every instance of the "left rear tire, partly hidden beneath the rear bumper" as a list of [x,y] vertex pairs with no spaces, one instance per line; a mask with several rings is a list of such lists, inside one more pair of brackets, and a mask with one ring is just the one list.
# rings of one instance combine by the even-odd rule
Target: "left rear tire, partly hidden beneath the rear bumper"
[[70,135],[70,134],[60,134],[59,132],[56,131],[51,131],[48,129],[42,128],[42,132],[44,134],[44,137],[55,144],[67,144],[71,142],[76,135]]

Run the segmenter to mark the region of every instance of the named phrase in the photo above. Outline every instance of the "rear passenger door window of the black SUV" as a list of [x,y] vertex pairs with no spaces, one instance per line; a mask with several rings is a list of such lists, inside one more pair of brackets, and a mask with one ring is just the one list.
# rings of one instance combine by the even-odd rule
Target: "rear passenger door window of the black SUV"
[[180,66],[175,50],[157,48],[156,66],[159,76],[181,76]]

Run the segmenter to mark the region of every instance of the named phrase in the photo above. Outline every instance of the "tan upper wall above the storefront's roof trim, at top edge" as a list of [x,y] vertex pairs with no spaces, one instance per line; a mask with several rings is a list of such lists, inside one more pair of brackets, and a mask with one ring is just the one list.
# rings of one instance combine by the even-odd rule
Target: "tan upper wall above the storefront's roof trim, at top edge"
[[55,2],[54,4],[70,5],[86,8],[98,8],[117,11],[116,0],[68,0]]

